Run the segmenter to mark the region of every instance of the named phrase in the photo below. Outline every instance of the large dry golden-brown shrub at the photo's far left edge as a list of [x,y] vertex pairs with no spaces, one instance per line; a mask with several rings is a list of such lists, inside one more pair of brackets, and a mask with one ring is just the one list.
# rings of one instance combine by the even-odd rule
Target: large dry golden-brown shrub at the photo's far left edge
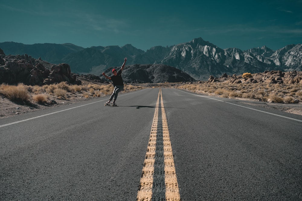
[[17,86],[1,84],[0,93],[12,101],[28,101],[29,95],[27,88],[27,86],[21,83]]

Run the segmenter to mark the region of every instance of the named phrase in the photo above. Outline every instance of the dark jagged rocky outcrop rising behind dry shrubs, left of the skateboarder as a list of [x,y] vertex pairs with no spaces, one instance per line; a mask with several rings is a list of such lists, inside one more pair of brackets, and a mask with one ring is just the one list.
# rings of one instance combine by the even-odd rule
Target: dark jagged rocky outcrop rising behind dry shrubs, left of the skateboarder
[[1,54],[0,83],[26,85],[43,85],[67,81],[71,84],[80,84],[76,81],[76,74],[71,73],[68,64],[52,65],[51,69],[44,66],[42,60],[25,55]]

